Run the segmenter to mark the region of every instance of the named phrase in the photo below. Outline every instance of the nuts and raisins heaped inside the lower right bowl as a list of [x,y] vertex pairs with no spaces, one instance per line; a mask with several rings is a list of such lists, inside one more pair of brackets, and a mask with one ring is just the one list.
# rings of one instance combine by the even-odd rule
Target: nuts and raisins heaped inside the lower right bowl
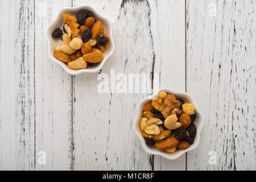
[[[98,44],[101,44],[101,40],[98,40]],[[158,98],[152,98],[144,105],[139,127],[148,146],[174,153],[194,143],[195,119],[192,104],[176,99],[174,94],[161,92]]]

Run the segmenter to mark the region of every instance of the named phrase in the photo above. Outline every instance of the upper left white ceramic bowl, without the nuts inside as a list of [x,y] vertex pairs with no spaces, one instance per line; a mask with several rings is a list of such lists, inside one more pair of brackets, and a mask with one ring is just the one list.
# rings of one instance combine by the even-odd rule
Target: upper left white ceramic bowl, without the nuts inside
[[[101,20],[102,26],[104,26],[104,31],[105,31],[104,33],[109,35],[110,41],[109,41],[109,48],[105,50],[104,60],[101,63],[99,63],[98,65],[93,65],[92,67],[88,67],[86,69],[74,70],[74,69],[68,68],[67,64],[57,60],[53,56],[54,48],[58,46],[62,41],[61,39],[53,39],[52,32],[56,28],[60,28],[61,30],[63,30],[63,25],[65,24],[65,21],[62,17],[62,14],[69,13],[71,15],[76,15],[78,11],[82,9],[87,9],[92,11],[94,18],[96,18],[97,20]],[[51,59],[55,61],[57,64],[61,65],[61,67],[71,75],[79,75],[80,73],[96,73],[100,71],[103,65],[106,63],[106,61],[110,57],[110,55],[112,55],[112,53],[114,52],[114,48],[115,48],[113,36],[112,36],[112,23],[110,22],[110,20],[98,14],[91,6],[86,6],[86,5],[80,6],[80,7],[70,7],[70,8],[61,10],[59,15],[57,15],[57,18],[48,26],[46,36],[48,39],[49,57],[51,57]]]

